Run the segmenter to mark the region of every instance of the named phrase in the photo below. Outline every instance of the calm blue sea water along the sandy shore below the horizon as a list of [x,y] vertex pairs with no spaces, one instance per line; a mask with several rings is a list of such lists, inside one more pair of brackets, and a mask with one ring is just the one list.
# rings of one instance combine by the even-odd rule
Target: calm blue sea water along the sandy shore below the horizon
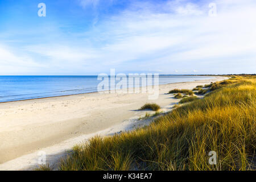
[[[209,78],[213,77],[159,76],[159,84]],[[97,92],[99,82],[97,76],[0,76],[0,102]]]

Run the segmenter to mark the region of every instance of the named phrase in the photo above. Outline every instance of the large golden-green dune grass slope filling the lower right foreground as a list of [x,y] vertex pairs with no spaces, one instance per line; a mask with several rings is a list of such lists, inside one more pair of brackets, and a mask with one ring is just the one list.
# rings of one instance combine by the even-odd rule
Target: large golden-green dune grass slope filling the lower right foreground
[[[213,85],[203,99],[176,107],[150,126],[75,146],[59,169],[253,169],[256,77],[236,76]],[[217,165],[208,163],[210,151],[217,152]]]

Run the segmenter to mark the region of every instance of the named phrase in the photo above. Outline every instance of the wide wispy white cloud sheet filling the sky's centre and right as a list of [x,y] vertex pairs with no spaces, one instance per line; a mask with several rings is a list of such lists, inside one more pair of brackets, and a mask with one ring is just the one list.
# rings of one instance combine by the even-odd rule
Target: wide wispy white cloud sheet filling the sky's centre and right
[[[132,2],[86,31],[63,33],[63,39],[30,42],[19,49],[56,75],[86,75],[110,68],[174,74],[256,69],[255,1],[215,1],[215,17],[208,16],[210,1]],[[102,1],[79,3],[88,8]],[[43,69],[39,72],[47,74]]]

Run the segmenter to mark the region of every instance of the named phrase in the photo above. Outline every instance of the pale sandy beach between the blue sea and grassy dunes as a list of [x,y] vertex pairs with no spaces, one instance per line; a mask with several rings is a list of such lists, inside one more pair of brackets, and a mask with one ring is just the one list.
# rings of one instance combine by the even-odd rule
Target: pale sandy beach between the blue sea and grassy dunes
[[159,104],[163,112],[170,111],[179,100],[165,94],[169,90],[192,89],[226,78],[159,85],[158,100],[148,100],[142,93],[88,93],[2,103],[0,170],[33,169],[38,166],[39,154],[43,154],[39,151],[46,152],[47,163],[56,163],[75,144],[90,137],[150,123],[150,118],[138,119],[146,111],[137,109],[146,102]]

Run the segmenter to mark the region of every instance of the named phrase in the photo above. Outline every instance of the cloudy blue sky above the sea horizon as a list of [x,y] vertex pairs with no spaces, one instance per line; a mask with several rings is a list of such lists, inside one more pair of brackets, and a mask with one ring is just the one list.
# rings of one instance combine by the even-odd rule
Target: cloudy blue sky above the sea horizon
[[255,73],[255,17],[255,0],[0,0],[0,75]]

